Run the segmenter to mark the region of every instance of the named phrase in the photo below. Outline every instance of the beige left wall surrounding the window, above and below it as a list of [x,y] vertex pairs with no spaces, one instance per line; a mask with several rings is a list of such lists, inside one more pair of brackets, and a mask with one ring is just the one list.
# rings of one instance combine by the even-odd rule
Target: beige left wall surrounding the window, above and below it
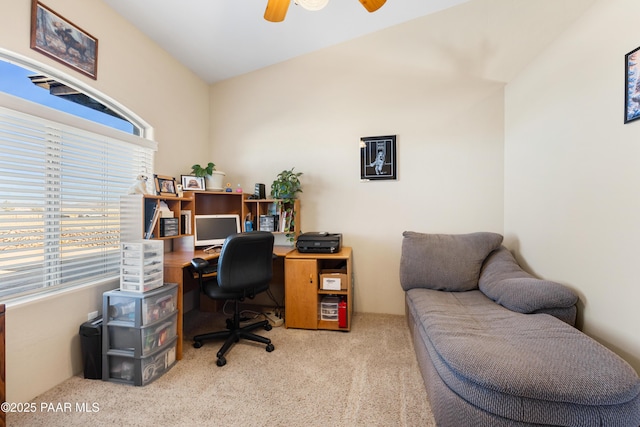
[[[0,48],[68,74],[142,117],[159,144],[157,173],[179,176],[209,145],[207,85],[101,1],[48,0],[47,6],[98,39],[98,79],[86,78],[29,48],[31,0],[3,1]],[[189,150],[184,150],[188,142]],[[82,370],[79,326],[102,311],[117,283],[7,307],[7,400],[25,402]]]

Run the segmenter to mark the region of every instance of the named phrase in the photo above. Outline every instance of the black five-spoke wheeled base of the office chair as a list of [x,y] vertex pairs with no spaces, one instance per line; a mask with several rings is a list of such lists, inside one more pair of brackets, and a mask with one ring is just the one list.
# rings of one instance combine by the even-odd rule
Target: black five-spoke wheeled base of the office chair
[[195,348],[202,347],[204,341],[208,340],[219,340],[226,339],[218,353],[216,353],[216,365],[224,366],[227,364],[227,359],[224,357],[227,351],[231,348],[231,346],[241,339],[246,339],[250,341],[259,342],[262,344],[266,344],[266,350],[271,353],[275,350],[273,344],[271,344],[271,340],[269,338],[262,337],[260,335],[256,335],[251,331],[256,330],[258,328],[264,328],[265,331],[271,330],[271,324],[268,320],[263,320],[261,322],[252,323],[247,326],[240,327],[240,301],[235,301],[235,311],[233,313],[233,320],[229,321],[227,319],[227,327],[229,329],[225,331],[217,331],[217,332],[209,332],[206,334],[200,334],[193,337],[193,346]]

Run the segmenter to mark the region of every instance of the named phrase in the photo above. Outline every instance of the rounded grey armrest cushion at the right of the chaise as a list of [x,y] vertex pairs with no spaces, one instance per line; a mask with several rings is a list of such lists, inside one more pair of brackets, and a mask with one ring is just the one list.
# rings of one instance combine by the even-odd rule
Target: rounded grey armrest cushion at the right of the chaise
[[493,301],[519,313],[568,308],[578,301],[578,295],[566,286],[526,273],[505,247],[485,261],[479,288]]

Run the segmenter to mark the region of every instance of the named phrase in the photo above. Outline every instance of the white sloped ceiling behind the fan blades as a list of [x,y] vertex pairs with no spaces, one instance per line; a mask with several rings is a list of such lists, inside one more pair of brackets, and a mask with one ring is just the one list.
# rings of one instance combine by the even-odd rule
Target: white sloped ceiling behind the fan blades
[[468,0],[387,0],[368,13],[358,0],[322,10],[291,5],[264,19],[267,0],[103,0],[208,83],[228,79],[428,15]]

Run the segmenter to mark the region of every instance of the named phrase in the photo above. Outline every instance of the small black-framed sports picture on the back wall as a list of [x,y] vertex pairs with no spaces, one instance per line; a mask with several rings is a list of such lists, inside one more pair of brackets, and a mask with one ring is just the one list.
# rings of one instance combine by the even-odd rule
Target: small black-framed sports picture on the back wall
[[396,136],[360,138],[360,179],[397,179]]

